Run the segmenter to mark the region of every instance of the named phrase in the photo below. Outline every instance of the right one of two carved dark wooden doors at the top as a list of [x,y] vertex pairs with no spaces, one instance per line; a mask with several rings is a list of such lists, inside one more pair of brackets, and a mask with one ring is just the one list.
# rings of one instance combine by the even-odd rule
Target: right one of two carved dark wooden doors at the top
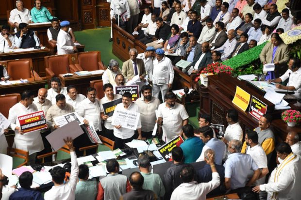
[[111,26],[110,3],[108,3],[106,0],[97,0],[96,13],[97,13],[96,26],[98,27]]

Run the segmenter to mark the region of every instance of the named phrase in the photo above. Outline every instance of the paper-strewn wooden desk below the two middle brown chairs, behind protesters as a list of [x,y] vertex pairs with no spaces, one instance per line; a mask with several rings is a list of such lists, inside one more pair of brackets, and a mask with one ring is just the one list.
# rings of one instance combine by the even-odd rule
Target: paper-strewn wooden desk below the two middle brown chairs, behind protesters
[[67,87],[68,85],[74,85],[78,93],[86,95],[87,88],[90,87],[90,81],[102,79],[102,74],[78,76],[74,74],[72,77],[63,77],[59,75],[62,85]]

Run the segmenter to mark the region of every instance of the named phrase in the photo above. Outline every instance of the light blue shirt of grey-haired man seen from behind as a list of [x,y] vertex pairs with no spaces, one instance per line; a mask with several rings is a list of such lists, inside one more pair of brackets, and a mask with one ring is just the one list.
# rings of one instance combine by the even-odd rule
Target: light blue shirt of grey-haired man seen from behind
[[231,189],[246,186],[250,175],[250,171],[255,171],[258,166],[249,154],[233,153],[228,155],[228,159],[224,163],[225,178],[231,179]]

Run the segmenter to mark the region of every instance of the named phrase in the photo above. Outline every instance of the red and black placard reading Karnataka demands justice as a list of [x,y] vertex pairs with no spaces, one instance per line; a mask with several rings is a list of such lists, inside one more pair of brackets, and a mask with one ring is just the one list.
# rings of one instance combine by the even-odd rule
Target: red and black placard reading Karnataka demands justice
[[37,111],[27,115],[18,117],[20,128],[24,133],[47,128],[46,118],[44,111]]

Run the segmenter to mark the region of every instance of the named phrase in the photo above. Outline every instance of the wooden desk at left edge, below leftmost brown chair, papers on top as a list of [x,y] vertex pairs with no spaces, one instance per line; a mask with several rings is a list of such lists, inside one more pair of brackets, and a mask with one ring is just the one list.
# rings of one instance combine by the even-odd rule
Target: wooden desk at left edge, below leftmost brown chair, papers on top
[[20,93],[25,90],[30,90],[34,93],[34,96],[37,95],[37,92],[40,88],[45,88],[46,80],[36,80],[33,78],[27,78],[28,83],[19,83],[14,85],[0,85],[0,94],[10,94],[10,93]]

